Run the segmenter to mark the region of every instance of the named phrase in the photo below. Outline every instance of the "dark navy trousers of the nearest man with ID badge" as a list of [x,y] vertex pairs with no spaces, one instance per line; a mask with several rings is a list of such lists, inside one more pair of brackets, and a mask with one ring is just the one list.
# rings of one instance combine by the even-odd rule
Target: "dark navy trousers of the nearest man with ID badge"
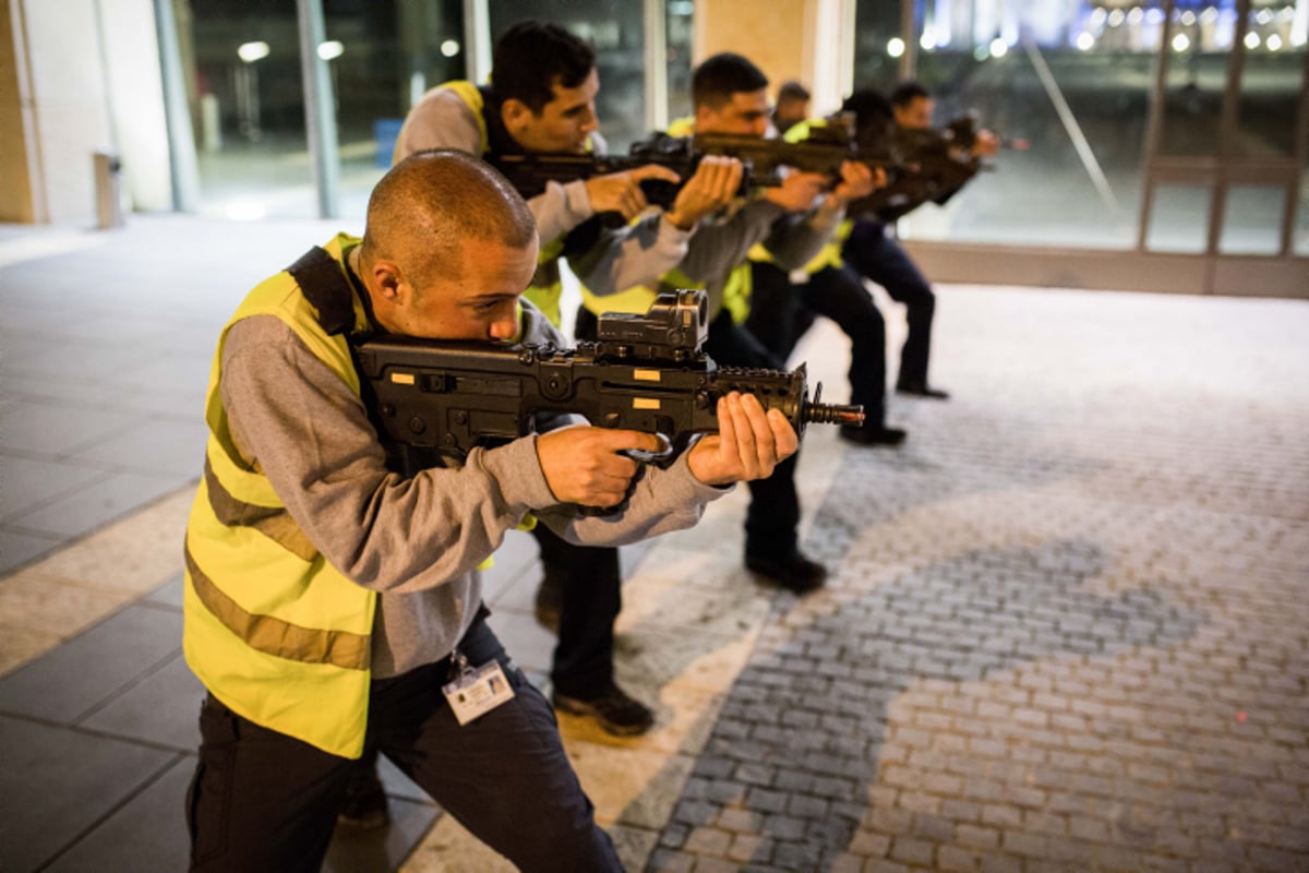
[[[521,870],[620,870],[564,754],[554,709],[478,620],[459,643],[495,658],[514,698],[459,726],[446,661],[373,682],[367,746],[390,758],[478,839]],[[353,762],[262,728],[212,694],[187,792],[191,869],[317,873]]]

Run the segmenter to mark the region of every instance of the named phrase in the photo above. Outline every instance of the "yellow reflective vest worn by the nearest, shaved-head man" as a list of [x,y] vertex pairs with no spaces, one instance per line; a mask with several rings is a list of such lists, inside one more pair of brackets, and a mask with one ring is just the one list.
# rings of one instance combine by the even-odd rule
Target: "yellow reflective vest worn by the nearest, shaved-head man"
[[[357,240],[325,249],[338,262]],[[187,665],[234,712],[323,751],[363,753],[377,594],[329,564],[267,476],[236,449],[219,381],[230,327],[275,315],[351,390],[348,343],[318,323],[285,272],[260,283],[224,327],[206,398],[206,470],[186,530],[182,645]],[[363,309],[356,321],[365,323]]]

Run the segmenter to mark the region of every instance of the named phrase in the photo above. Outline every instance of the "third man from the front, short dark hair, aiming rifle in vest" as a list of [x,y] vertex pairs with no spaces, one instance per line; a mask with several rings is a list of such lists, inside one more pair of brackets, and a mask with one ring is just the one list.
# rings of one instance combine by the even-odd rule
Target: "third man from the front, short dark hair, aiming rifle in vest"
[[[768,79],[747,58],[721,52],[706,59],[691,77],[694,123],[677,123],[669,134],[732,134],[762,137],[768,131]],[[593,279],[583,292],[586,312],[579,313],[579,335],[592,330],[605,309],[645,312],[660,287],[700,287],[709,297],[709,331],[706,351],[729,366],[780,368],[742,322],[750,310],[750,262],[747,253],[763,243],[787,268],[808,263],[844,216],[844,204],[873,190],[870,170],[855,162],[842,168],[833,190],[819,173],[791,173],[776,187],[733,204],[729,216],[702,219],[690,240],[686,258],[677,270],[652,275],[630,288]],[[751,571],[797,593],[821,586],[827,571],[798,546],[800,495],[795,483],[795,458],[779,465],[768,479],[750,486],[751,501],[745,522],[745,563]]]

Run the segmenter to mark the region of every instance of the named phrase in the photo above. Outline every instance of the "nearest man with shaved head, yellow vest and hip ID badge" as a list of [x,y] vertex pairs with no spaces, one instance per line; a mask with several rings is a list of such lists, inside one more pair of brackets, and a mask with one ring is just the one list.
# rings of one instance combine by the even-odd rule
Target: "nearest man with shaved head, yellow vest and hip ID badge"
[[[208,694],[186,813],[192,870],[318,870],[352,760],[378,749],[524,870],[618,870],[554,712],[487,626],[476,568],[528,513],[617,546],[694,525],[795,431],[753,397],[669,469],[653,435],[572,427],[387,469],[355,343],[373,332],[560,342],[520,300],[526,204],[453,151],[399,162],[361,240],[260,283],[224,327],[185,543],[183,650]],[[626,508],[602,517],[576,507]]]

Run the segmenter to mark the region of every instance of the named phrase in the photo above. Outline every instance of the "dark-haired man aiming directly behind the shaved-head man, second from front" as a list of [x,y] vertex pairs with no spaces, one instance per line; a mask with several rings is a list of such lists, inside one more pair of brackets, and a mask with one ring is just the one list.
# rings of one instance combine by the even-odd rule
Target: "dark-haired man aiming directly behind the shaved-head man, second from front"
[[[395,158],[431,148],[456,148],[492,161],[501,154],[602,152],[598,90],[596,54],[588,43],[554,24],[514,24],[496,41],[490,84],[454,81],[427,92],[404,119]],[[741,173],[737,161],[709,161],[666,212],[603,233],[597,233],[600,215],[631,221],[647,211],[641,181],[678,182],[677,174],[651,165],[548,183],[528,200],[542,254],[526,297],[562,327],[562,258],[584,281],[606,275],[607,281],[631,283],[672,268],[686,254],[699,219],[734,195]],[[558,631],[550,671],[555,705],[593,717],[617,736],[647,732],[654,713],[614,679],[614,620],[622,609],[618,550],[567,543],[543,525],[533,535],[543,569],[537,615]]]

